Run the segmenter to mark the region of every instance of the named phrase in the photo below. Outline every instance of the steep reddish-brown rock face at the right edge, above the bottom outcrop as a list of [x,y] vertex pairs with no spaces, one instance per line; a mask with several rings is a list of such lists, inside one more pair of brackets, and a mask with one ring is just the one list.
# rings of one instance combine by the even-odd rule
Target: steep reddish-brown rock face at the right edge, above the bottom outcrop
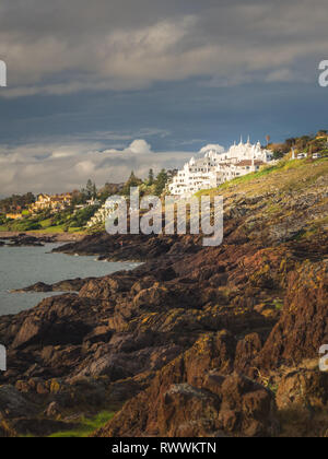
[[272,368],[282,362],[318,357],[328,343],[328,266],[305,262],[289,274],[281,319],[273,328],[256,366]]

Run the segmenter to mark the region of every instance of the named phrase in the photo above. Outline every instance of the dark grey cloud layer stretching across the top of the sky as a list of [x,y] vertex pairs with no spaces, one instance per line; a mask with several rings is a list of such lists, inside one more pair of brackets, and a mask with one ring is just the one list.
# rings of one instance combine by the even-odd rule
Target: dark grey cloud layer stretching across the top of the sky
[[[144,89],[206,78],[305,81],[328,47],[326,0],[11,0],[0,7],[5,96]],[[301,67],[301,69],[300,69]]]

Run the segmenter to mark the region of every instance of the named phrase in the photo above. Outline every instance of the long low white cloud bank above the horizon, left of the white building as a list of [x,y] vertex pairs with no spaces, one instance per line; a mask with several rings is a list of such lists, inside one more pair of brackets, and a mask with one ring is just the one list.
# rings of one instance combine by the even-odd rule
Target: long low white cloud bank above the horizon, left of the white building
[[131,169],[147,177],[150,168],[180,167],[191,152],[153,152],[144,140],[125,150],[105,150],[102,142],[43,143],[0,149],[0,196],[26,191],[80,189],[91,178],[98,186],[127,180]]

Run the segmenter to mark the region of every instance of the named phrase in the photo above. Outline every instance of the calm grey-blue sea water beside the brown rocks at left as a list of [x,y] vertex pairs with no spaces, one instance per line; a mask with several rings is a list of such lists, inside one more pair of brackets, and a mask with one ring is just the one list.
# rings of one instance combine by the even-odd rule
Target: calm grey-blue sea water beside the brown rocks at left
[[97,278],[115,271],[133,269],[138,263],[95,261],[95,257],[70,257],[50,254],[60,244],[45,247],[0,247],[0,316],[16,314],[36,306],[54,293],[9,293],[36,282],[54,284],[75,278]]

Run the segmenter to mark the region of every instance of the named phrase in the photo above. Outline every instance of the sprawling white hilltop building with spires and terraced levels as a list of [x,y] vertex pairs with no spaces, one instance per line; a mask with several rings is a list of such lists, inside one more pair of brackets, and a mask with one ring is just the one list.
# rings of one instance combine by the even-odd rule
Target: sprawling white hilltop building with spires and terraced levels
[[168,189],[172,195],[189,197],[197,191],[216,188],[224,181],[259,170],[273,160],[270,150],[262,149],[260,142],[251,144],[248,138],[229,149],[220,145],[208,145],[200,150],[203,157],[191,160],[173,178]]

